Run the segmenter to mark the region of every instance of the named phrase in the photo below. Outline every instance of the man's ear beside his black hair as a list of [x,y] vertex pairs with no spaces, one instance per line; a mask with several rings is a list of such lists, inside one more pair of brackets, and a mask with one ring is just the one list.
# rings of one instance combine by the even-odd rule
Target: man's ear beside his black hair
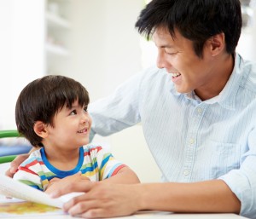
[[207,48],[212,56],[218,55],[225,49],[225,35],[224,32],[218,33],[207,40]]

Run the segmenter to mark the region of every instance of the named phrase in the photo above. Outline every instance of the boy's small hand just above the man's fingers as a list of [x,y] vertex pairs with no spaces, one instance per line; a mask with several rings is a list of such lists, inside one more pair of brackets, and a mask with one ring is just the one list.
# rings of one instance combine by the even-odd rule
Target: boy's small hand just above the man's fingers
[[67,186],[68,184],[72,184],[73,182],[80,182],[80,181],[90,181],[90,178],[86,176],[82,176],[81,172],[74,174],[73,176],[67,176],[63,179],[53,178],[49,181],[49,185],[45,190],[45,193],[52,193],[59,187]]

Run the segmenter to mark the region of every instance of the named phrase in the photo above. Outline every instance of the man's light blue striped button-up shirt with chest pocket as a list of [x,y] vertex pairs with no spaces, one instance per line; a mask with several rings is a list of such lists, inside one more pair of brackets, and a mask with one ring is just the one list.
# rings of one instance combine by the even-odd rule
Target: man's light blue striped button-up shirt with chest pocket
[[142,123],[164,182],[221,179],[256,218],[256,65],[236,55],[228,83],[201,101],[180,94],[165,69],[150,68],[90,104],[91,136]]

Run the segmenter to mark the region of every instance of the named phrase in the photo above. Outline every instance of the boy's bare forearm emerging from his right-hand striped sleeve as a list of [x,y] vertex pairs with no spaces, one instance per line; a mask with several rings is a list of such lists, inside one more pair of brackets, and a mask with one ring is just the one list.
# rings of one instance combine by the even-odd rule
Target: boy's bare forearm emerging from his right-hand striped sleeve
[[102,183],[120,183],[120,184],[130,184],[130,183],[140,183],[139,178],[129,167],[123,167],[114,176],[109,177],[102,181]]

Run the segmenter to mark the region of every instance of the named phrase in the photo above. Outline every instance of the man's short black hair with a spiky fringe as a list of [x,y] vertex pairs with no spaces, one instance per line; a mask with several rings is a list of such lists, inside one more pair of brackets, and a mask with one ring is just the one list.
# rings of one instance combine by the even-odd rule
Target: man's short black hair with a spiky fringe
[[234,54],[241,34],[241,4],[239,0],[152,0],[138,17],[139,33],[151,37],[158,27],[175,30],[194,44],[195,54],[209,37],[224,32],[226,51]]

